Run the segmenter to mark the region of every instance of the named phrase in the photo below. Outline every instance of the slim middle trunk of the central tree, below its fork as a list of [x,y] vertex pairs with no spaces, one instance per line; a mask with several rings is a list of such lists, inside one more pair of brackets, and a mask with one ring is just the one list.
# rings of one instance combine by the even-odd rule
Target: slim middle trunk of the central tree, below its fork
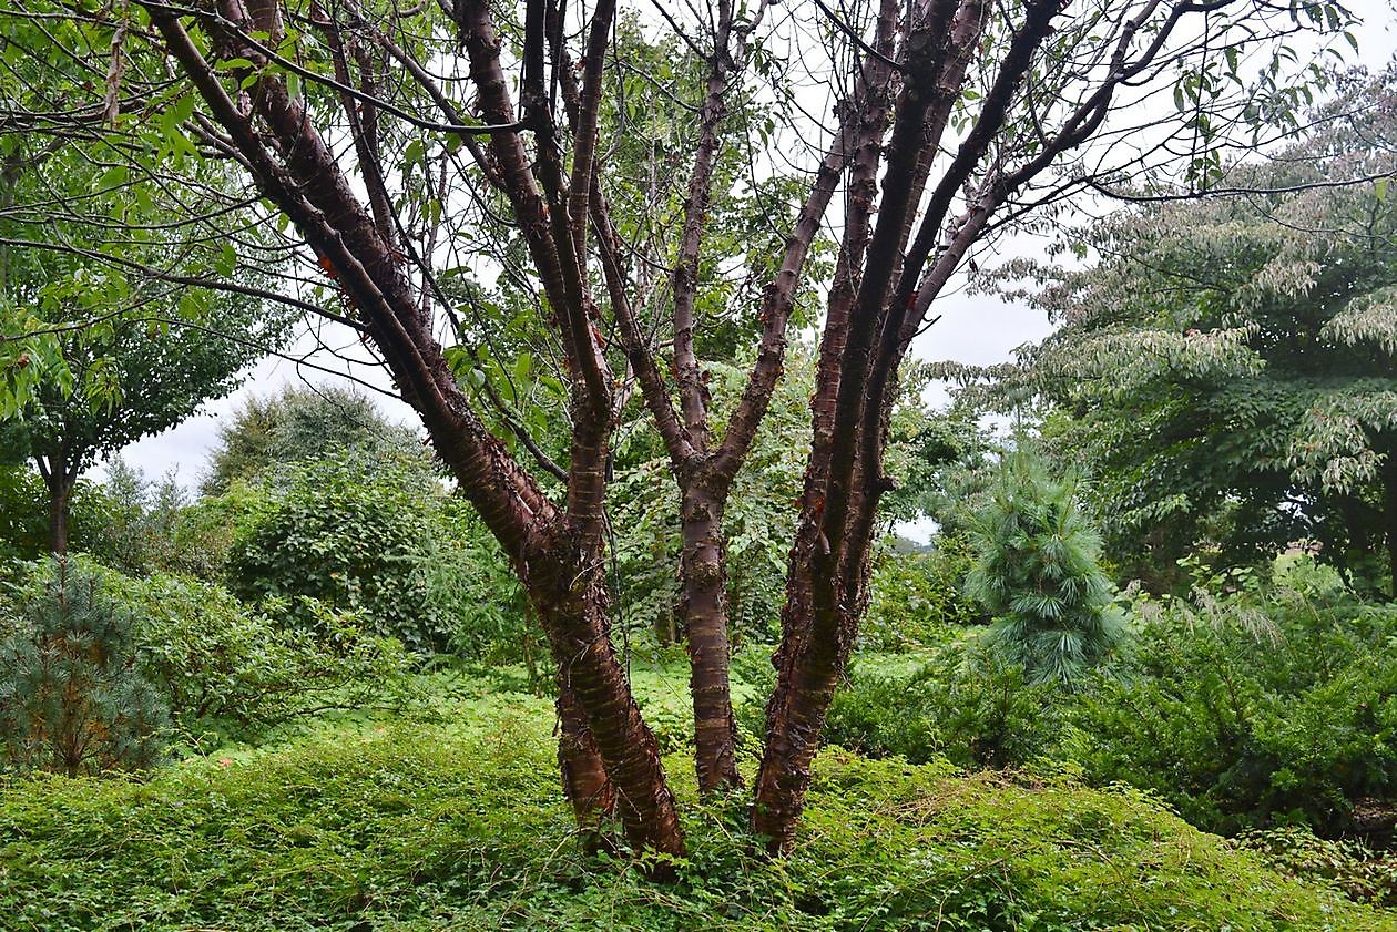
[[698,792],[742,785],[738,724],[728,682],[728,592],[722,535],[725,493],[707,482],[682,483],[682,605],[689,644],[689,683],[694,704],[694,770]]

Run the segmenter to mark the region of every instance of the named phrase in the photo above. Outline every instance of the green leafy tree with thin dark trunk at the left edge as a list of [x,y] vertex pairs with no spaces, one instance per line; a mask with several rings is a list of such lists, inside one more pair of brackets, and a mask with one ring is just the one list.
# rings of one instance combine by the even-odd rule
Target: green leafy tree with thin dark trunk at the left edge
[[[20,49],[47,49],[28,82],[17,78],[35,61]],[[18,63],[3,85],[18,126],[0,133],[0,419],[43,478],[49,549],[63,553],[78,478],[232,391],[277,347],[288,312],[239,268],[261,235],[246,205],[226,203],[226,166],[162,131],[187,108],[120,117],[103,99],[66,115],[82,131],[49,134],[34,115],[91,78],[34,24],[7,31],[6,52]],[[103,140],[117,119],[142,129]],[[201,212],[226,235],[193,235]]]

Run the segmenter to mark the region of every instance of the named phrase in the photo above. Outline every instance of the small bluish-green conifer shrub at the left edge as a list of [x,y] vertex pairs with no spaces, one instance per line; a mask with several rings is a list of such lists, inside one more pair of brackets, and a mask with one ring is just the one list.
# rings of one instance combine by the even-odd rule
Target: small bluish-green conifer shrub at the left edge
[[134,618],[67,560],[18,604],[0,640],[0,743],[11,769],[70,777],[159,757],[163,697],[137,662]]

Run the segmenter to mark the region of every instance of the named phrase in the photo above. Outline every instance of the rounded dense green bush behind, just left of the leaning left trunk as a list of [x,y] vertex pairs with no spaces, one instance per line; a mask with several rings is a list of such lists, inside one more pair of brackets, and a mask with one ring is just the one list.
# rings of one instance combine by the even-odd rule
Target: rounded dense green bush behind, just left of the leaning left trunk
[[228,583],[251,602],[286,599],[317,630],[310,597],[360,613],[418,654],[518,650],[517,585],[486,535],[423,464],[352,460],[289,467],[250,502]]

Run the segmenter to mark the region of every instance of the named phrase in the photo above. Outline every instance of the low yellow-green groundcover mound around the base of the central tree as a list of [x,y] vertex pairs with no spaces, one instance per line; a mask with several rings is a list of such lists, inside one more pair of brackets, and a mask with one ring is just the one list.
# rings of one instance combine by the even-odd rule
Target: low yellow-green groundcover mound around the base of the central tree
[[[690,808],[679,880],[588,859],[535,714],[0,788],[8,929],[1397,929],[1151,798],[824,755],[796,854]],[[669,770],[687,770],[672,759]],[[692,788],[689,788],[692,792]]]

